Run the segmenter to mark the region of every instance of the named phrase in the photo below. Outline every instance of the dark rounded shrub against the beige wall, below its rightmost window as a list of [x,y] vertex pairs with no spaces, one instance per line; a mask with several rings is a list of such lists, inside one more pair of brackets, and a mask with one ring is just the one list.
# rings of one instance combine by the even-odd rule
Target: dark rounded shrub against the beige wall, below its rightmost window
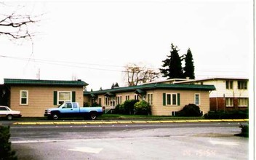
[[195,104],[185,105],[175,116],[202,116],[199,106]]

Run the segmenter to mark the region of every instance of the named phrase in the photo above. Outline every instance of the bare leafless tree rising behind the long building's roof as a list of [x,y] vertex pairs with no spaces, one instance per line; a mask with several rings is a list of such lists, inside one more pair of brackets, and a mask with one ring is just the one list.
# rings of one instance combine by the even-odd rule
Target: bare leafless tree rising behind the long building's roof
[[125,74],[128,86],[137,86],[146,82],[151,82],[153,79],[159,77],[159,72],[151,68],[139,67],[136,64],[129,64],[125,66]]

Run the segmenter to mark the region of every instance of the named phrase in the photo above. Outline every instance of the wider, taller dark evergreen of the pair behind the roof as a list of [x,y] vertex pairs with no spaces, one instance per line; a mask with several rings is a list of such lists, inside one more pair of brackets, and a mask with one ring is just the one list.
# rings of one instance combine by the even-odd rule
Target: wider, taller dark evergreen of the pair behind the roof
[[179,50],[173,44],[171,47],[170,55],[167,55],[167,59],[162,61],[164,64],[162,65],[163,68],[160,68],[160,72],[167,79],[183,79],[183,68],[178,54]]

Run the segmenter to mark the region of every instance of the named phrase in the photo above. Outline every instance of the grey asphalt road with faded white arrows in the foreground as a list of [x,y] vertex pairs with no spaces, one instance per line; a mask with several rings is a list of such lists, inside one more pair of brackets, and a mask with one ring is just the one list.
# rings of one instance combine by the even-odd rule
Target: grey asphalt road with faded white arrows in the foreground
[[248,159],[239,132],[238,122],[26,124],[10,140],[19,159]]

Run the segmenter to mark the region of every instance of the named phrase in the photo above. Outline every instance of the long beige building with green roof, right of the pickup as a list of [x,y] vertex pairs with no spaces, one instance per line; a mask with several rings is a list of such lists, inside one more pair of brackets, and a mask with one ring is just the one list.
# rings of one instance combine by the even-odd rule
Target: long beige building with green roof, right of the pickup
[[209,91],[214,89],[213,85],[150,83],[84,92],[84,103],[98,103],[108,111],[125,100],[145,100],[151,105],[152,115],[157,116],[174,116],[185,105],[193,103],[207,113]]

